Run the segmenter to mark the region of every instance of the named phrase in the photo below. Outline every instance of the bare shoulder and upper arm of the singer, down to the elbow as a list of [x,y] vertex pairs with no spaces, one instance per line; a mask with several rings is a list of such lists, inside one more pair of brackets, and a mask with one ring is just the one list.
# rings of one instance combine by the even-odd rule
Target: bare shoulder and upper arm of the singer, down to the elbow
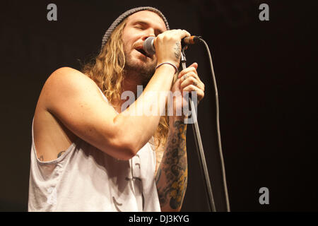
[[42,112],[52,115],[83,141],[119,159],[130,156],[113,123],[117,112],[98,85],[80,71],[67,67],[54,71],[42,88],[39,102]]

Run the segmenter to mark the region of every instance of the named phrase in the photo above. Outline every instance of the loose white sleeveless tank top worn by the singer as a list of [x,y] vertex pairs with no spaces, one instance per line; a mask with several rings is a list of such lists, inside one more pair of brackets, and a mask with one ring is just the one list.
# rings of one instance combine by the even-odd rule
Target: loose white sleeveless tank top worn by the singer
[[28,211],[160,211],[154,174],[153,142],[117,160],[77,138],[57,160],[42,162],[32,124]]

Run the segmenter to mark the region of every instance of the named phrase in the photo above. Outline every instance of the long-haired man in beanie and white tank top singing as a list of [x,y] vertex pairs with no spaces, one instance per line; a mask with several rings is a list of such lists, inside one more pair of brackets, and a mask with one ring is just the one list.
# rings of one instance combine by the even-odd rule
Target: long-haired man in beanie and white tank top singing
[[[152,56],[143,50],[150,36]],[[100,54],[82,71],[64,67],[49,76],[33,117],[29,211],[182,208],[186,116],[134,112],[153,107],[156,97],[148,92],[196,91],[198,101],[204,97],[196,63],[177,74],[180,41],[189,36],[170,30],[158,9],[133,8],[114,20]],[[122,94],[136,95],[137,85],[143,93],[122,109]],[[167,104],[167,98],[156,100],[160,109]],[[174,112],[188,105],[183,95],[173,103]]]

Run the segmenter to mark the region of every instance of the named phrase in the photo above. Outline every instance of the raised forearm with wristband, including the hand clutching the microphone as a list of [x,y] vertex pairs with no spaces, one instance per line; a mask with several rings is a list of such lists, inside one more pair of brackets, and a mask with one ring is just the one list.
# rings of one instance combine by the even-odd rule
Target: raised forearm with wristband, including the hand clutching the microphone
[[[179,68],[181,56],[180,41],[187,36],[190,36],[190,34],[185,30],[166,30],[157,35],[153,42],[155,45],[157,65],[170,63]],[[124,132],[124,136],[127,136],[127,138],[125,138],[126,141],[131,141],[131,150],[133,150],[134,153],[142,148],[143,145],[149,141],[151,136],[153,136],[162,115],[156,114],[143,117],[129,117],[129,115],[135,114],[136,112],[143,112],[144,110],[146,110],[146,112],[153,112],[151,109],[154,107],[158,107],[160,110],[165,108],[167,93],[171,90],[173,77],[176,73],[175,67],[172,65],[163,64],[155,70],[151,81],[149,81],[141,97],[124,111],[128,114],[128,118],[126,118],[126,115],[120,114],[114,119],[115,124],[117,123],[120,125],[117,126],[117,128],[122,128],[122,126],[126,128],[126,131],[122,131]],[[158,95],[158,98],[148,98],[147,95],[149,92],[155,94],[160,93],[160,95]],[[164,98],[162,98],[163,93],[161,92],[165,92]],[[158,104],[153,105],[153,102],[156,100],[158,100]]]

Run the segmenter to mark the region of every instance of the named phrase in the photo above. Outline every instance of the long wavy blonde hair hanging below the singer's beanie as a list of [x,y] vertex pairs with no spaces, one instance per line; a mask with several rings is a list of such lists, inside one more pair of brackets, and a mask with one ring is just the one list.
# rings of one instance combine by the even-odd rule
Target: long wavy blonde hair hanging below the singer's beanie
[[[126,25],[126,19],[117,26],[110,35],[110,39],[102,48],[100,54],[88,64],[84,64],[81,70],[98,85],[102,93],[112,105],[120,102],[122,81],[124,81],[124,44],[122,42],[122,30]],[[165,107],[167,110],[167,105]],[[167,112],[166,112],[167,113]],[[155,145],[165,145],[169,131],[169,118],[167,114],[160,117],[157,131],[154,134]]]

